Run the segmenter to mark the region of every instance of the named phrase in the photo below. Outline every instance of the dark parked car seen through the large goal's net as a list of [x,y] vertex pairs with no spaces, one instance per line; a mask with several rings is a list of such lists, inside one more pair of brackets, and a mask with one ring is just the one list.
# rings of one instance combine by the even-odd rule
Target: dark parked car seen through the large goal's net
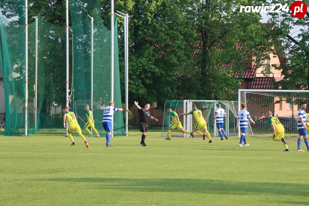
[[[297,118],[295,117],[281,117],[276,116],[280,123],[283,125],[285,131],[296,132],[297,131]],[[268,124],[268,118],[264,117],[260,120],[256,120],[255,124],[251,124],[252,129],[264,129],[270,128]]]

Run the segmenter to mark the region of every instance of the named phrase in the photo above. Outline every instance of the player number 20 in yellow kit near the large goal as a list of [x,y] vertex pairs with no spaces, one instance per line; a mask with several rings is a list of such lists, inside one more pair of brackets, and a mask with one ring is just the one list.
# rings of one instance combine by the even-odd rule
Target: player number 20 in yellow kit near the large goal
[[280,123],[279,119],[272,115],[273,113],[271,111],[266,113],[266,117],[269,119],[268,123],[271,125],[270,131],[273,131],[273,141],[281,141],[286,148],[284,151],[289,151],[286,140],[284,139],[284,127]]

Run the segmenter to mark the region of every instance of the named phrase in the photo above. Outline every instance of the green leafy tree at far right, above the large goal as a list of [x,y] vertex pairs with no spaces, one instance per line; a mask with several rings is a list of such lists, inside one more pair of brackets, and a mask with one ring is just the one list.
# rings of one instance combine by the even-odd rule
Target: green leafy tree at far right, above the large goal
[[[308,0],[304,0],[306,5]],[[290,7],[292,1],[272,1],[271,5],[280,3]],[[309,90],[309,13],[305,18],[295,18],[291,13],[269,13],[274,26],[273,38],[278,38],[280,46],[278,55],[282,55],[282,63],[274,66],[283,70],[284,78],[275,83],[277,88]],[[296,34],[295,34],[296,32]]]

